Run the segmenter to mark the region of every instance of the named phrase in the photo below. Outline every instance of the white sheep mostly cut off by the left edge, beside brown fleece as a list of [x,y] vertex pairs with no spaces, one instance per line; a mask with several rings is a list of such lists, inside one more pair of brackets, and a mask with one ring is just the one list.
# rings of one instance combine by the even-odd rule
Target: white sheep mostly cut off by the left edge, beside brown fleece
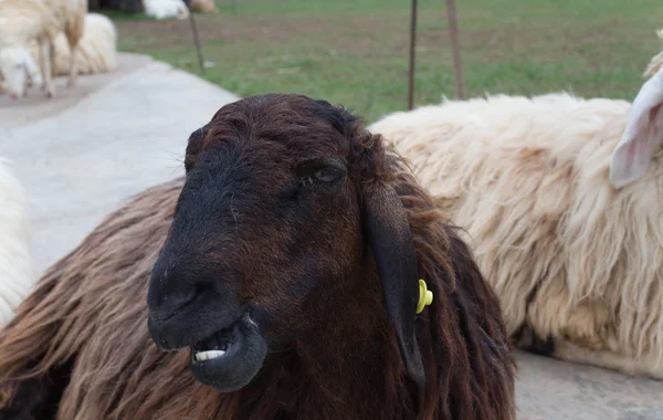
[[36,281],[25,202],[10,161],[0,157],[0,326],[13,316]]

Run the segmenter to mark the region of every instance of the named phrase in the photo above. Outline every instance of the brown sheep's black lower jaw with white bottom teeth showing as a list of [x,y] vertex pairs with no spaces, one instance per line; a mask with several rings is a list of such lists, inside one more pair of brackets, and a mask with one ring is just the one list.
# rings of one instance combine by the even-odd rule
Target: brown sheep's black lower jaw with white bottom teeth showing
[[222,392],[238,390],[257,374],[267,344],[249,315],[191,347],[189,369],[199,382]]

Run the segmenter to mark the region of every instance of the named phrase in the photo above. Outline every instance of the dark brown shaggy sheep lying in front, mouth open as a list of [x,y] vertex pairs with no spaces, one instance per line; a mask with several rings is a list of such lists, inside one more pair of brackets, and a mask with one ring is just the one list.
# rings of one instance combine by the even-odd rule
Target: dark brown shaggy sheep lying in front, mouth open
[[496,296],[385,147],[324,101],[222,107],[186,178],[110,214],[0,332],[0,417],[514,419]]

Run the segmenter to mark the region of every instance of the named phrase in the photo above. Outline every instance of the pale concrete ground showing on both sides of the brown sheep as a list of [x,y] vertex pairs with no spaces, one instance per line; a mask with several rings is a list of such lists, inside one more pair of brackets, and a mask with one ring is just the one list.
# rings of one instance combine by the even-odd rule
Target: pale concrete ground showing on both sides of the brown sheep
[[[133,54],[110,74],[57,80],[52,101],[33,90],[0,96],[0,156],[30,196],[33,252],[43,271],[127,197],[182,172],[189,134],[236,96]],[[663,420],[663,382],[518,354],[518,418]]]

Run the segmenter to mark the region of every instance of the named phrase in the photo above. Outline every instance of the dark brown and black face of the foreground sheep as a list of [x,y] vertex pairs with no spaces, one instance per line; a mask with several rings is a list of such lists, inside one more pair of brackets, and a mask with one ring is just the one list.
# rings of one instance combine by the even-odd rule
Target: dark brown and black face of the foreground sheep
[[301,96],[219,111],[187,148],[187,180],[150,280],[149,330],[191,348],[197,379],[246,385],[269,347],[306,334],[307,305],[361,259],[352,117]]

